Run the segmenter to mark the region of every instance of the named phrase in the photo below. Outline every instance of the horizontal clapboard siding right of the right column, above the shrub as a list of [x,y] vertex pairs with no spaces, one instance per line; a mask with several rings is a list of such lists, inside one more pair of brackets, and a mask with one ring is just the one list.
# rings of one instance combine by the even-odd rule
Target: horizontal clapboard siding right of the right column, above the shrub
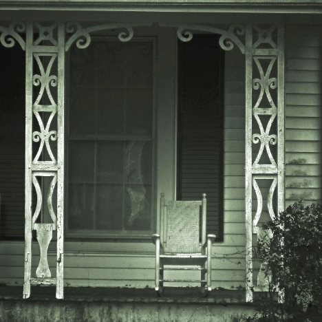
[[322,32],[286,28],[286,206],[321,201]]

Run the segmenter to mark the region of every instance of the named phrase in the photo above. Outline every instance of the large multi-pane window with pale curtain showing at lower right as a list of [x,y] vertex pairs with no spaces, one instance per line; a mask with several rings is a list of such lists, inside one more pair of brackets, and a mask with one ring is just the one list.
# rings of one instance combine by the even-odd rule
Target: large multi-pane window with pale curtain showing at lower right
[[70,52],[67,233],[150,235],[154,41],[96,38]]

